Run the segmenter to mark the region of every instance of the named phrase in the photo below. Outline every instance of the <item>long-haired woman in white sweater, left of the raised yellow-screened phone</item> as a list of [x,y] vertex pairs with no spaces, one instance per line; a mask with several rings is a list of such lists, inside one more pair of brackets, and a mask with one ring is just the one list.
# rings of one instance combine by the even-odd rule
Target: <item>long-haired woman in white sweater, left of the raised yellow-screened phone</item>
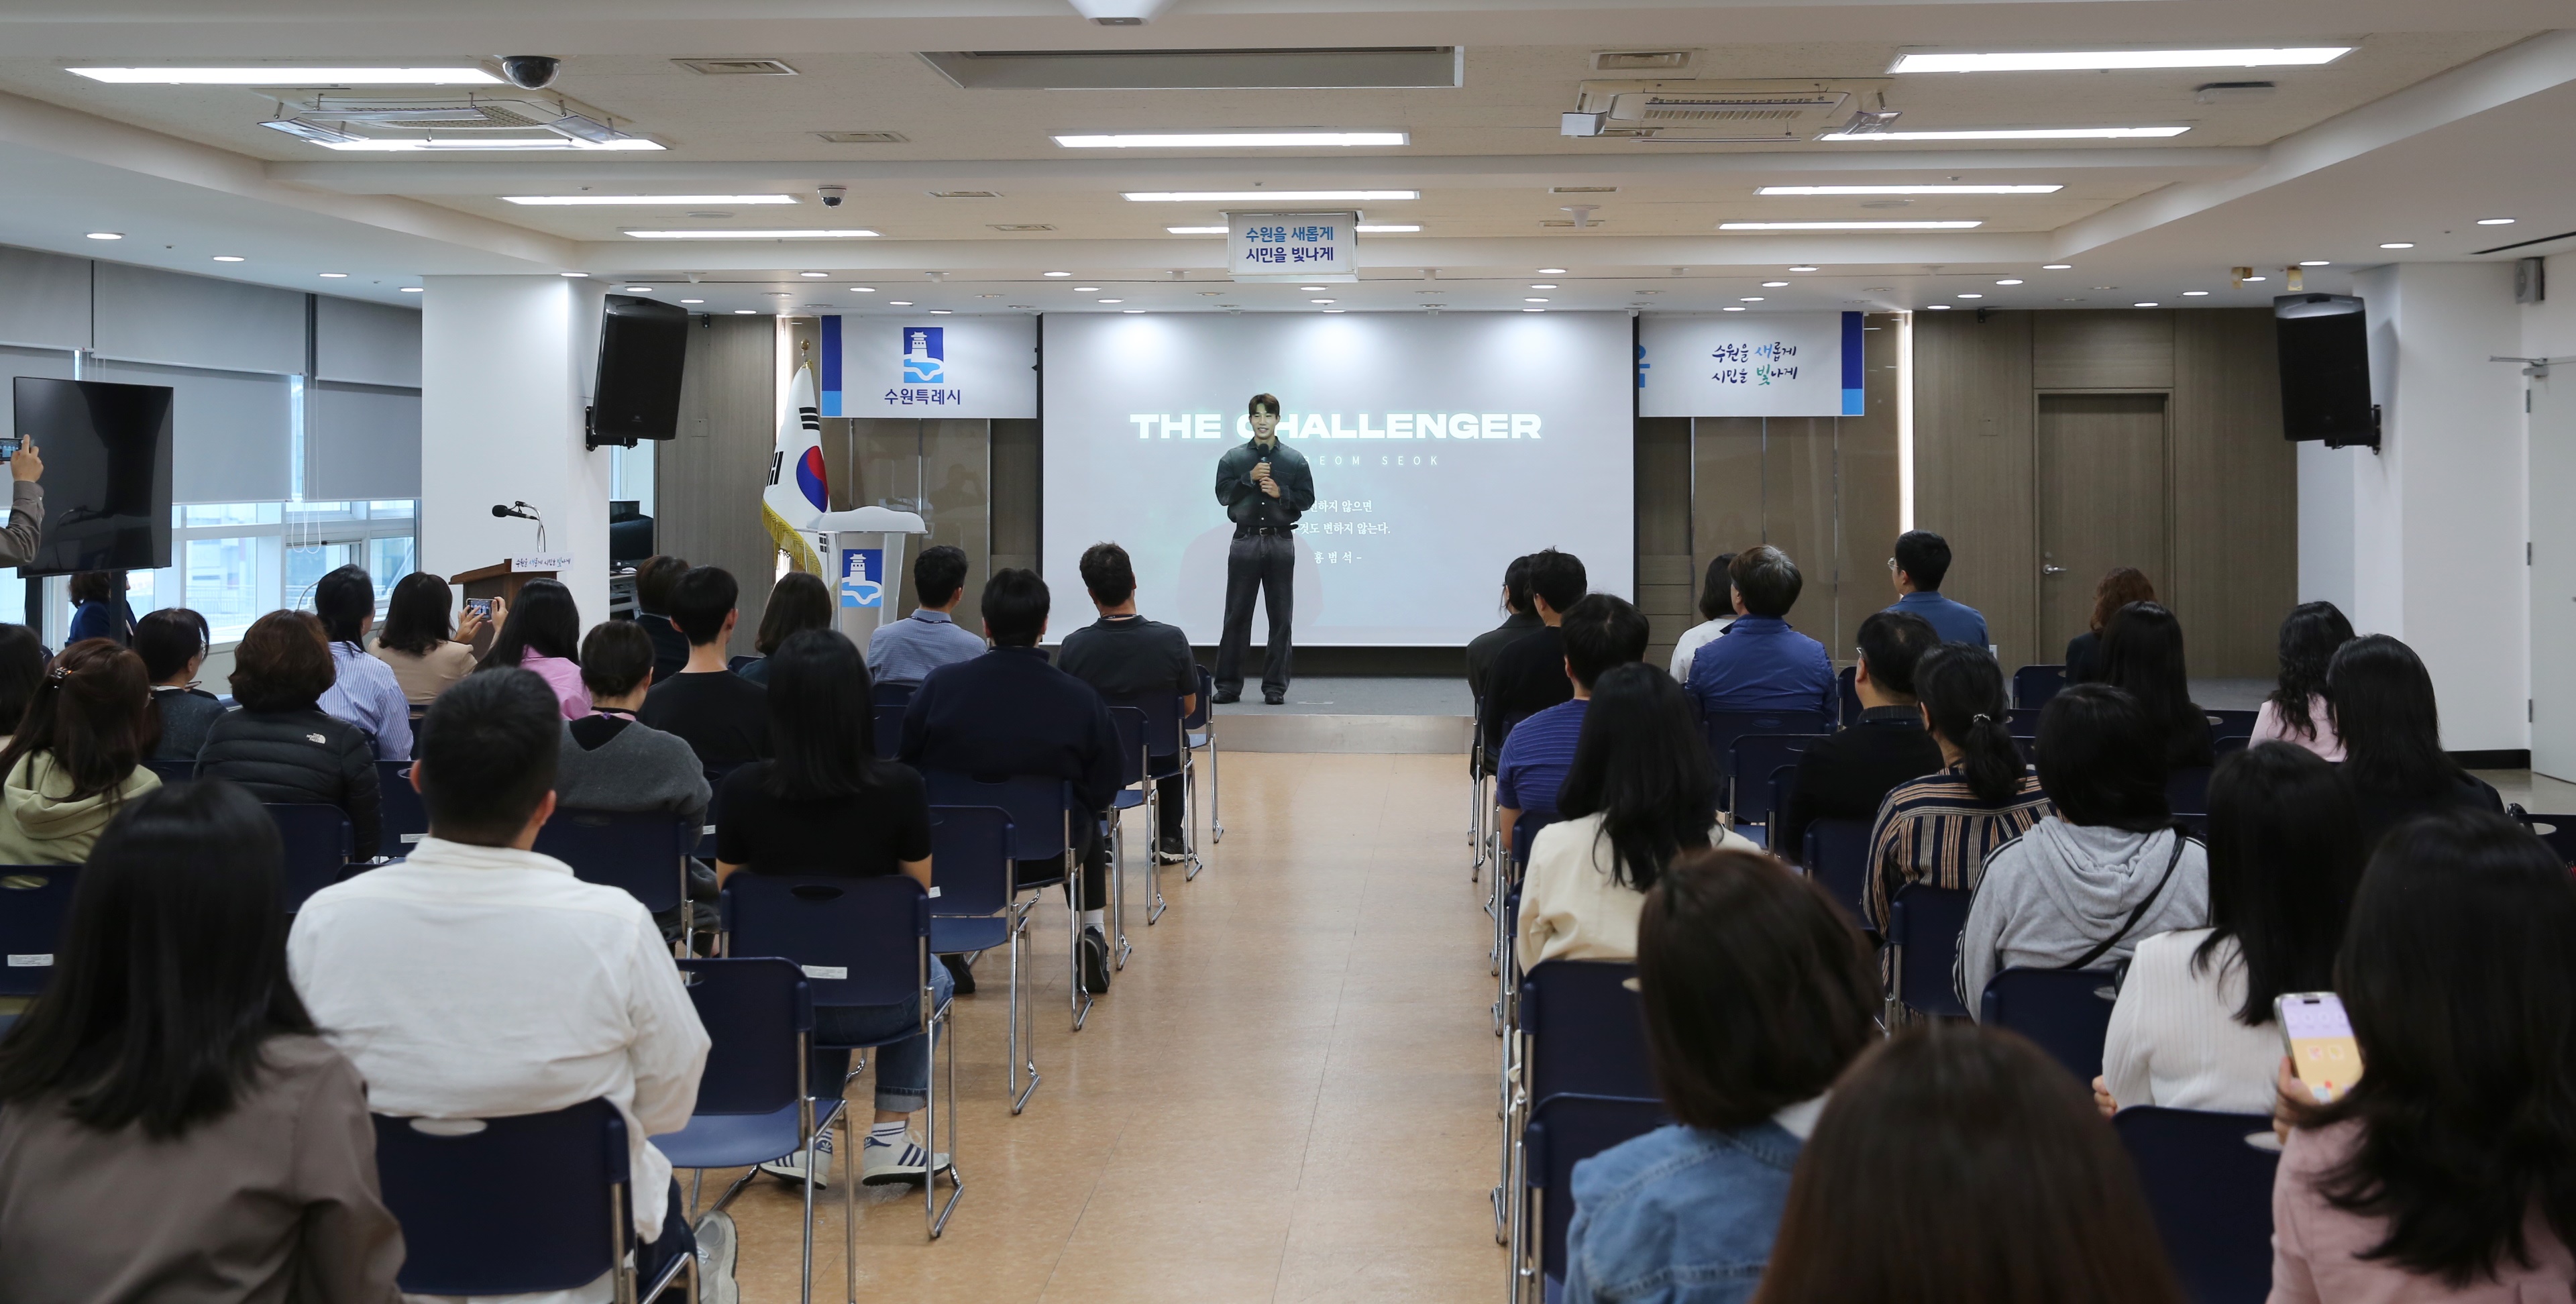
[[2210,776],[2210,925],[2138,943],[2110,1013],[2105,1111],[2272,1113],[2272,997],[2334,987],[2362,879],[2360,814],[2334,765],[2259,742]]

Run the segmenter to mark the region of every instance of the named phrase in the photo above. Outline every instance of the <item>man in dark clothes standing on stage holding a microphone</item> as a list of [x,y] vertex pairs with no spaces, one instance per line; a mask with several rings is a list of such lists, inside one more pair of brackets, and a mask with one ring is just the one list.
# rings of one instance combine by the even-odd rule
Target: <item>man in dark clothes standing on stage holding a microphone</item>
[[1252,642],[1252,590],[1270,611],[1262,701],[1288,701],[1288,618],[1296,608],[1296,521],[1314,508],[1306,456],[1280,443],[1280,399],[1252,394],[1252,438],[1216,459],[1216,500],[1234,521],[1226,549],[1226,634],[1216,644],[1216,701],[1244,696],[1244,644]]

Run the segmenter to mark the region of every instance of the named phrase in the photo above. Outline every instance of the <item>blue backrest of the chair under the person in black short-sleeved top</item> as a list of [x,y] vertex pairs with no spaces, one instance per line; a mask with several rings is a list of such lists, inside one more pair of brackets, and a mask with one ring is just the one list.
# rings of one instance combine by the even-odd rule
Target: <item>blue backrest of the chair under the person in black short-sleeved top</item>
[[781,956],[804,969],[814,1005],[902,1005],[922,1000],[922,946],[930,894],[922,884],[878,879],[783,879],[734,874],[724,881],[724,930],[734,956]]

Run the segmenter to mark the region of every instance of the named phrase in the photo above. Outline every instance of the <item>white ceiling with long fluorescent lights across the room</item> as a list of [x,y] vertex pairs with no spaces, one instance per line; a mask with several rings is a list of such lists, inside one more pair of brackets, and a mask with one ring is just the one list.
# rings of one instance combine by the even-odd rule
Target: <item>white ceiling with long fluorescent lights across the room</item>
[[[1149,5],[1151,8],[1151,5]],[[1066,0],[732,3],[417,0],[13,3],[0,13],[0,242],[389,302],[422,276],[587,271],[696,283],[706,309],[811,312],[909,299],[958,312],[1522,307],[2128,307],[2262,304],[2280,265],[2326,258],[2311,289],[2391,258],[2576,232],[2576,31],[2563,0],[2025,0],[1893,5],[1667,0],[1172,0],[1144,28]],[[1870,34],[1855,41],[1855,34]],[[1216,49],[1461,44],[1445,90],[961,90],[922,49]],[[2326,67],[1886,77],[1906,44],[2357,44]],[[1641,144],[1569,139],[1556,116],[1602,49],[1695,49],[1695,77],[1883,80],[1901,129],[2190,124],[2166,142]],[[350,157],[260,129],[247,88],[98,85],[70,62],[564,59],[554,90],[670,144],[657,155]],[[796,77],[706,77],[677,57],[775,57]],[[2210,80],[2272,80],[2251,103],[2195,103]],[[1072,152],[1051,131],[1401,129],[1396,149]],[[902,131],[824,144],[814,131]],[[1108,157],[1103,157],[1108,155]],[[1765,198],[1767,183],[2058,183],[2050,196]],[[850,201],[827,211],[814,186]],[[1365,283],[1309,294],[1224,281],[1221,240],[1167,224],[1216,206],[1128,204],[1131,188],[1419,188],[1370,222]],[[1615,186],[1615,193],[1551,193]],[[783,191],[793,206],[526,209],[502,193]],[[999,191],[935,198],[933,191]],[[1540,227],[1595,204],[1589,229]],[[703,209],[698,209],[703,211]],[[829,214],[829,216],[827,216]],[[2476,227],[2514,216],[2512,227]],[[1981,219],[1976,232],[1718,235],[1728,219]],[[868,227],[878,240],[644,245],[626,227]],[[1043,224],[1048,232],[997,227]],[[82,232],[118,229],[121,242]],[[2411,240],[2414,250],[2380,250]],[[2555,253],[2576,242],[2540,245]],[[211,263],[216,253],[245,263]],[[2509,255],[2488,255],[2509,258]],[[1816,273],[1788,273],[1811,263]],[[2038,271],[2074,263],[2071,271]],[[1564,276],[1533,276],[1535,268]],[[2231,289],[2228,268],[2272,281]],[[325,271],[348,278],[319,281]],[[824,278],[796,276],[822,271]],[[1072,271],[1072,278],[1043,278]],[[696,273],[690,281],[688,273]],[[938,276],[933,276],[938,273]],[[1759,281],[1790,281],[1762,289]],[[1994,286],[2020,278],[2022,286]],[[1556,291],[1528,289],[1551,281]],[[1072,286],[1103,286],[1074,291]],[[878,294],[853,294],[871,286]],[[2202,289],[2208,296],[2182,299]],[[1654,291],[1654,294],[1649,294]],[[1958,299],[1984,294],[1986,299]],[[1759,296],[1759,304],[1741,299]],[[1123,299],[1123,304],[1097,304]]]

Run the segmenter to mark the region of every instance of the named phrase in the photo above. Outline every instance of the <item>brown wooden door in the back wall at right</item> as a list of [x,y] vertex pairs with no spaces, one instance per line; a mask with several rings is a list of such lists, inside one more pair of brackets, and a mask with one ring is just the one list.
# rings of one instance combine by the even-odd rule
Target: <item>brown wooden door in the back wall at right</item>
[[2094,585],[2138,567],[2172,585],[2164,394],[2040,394],[2040,657],[2092,626]]

